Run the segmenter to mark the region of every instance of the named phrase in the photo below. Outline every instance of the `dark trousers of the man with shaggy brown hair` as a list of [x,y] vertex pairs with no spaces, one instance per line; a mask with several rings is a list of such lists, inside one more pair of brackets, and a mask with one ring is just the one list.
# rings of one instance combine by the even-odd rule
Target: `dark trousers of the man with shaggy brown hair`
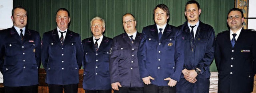
[[176,86],[157,86],[144,84],[144,93],[176,93]]

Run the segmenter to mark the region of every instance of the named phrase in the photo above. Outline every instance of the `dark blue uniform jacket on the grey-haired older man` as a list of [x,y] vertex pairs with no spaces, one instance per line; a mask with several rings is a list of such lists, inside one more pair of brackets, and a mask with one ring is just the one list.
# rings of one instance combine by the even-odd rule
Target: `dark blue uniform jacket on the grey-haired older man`
[[109,76],[109,54],[113,39],[103,36],[96,51],[93,37],[82,41],[84,47],[84,81],[85,90],[111,89]]

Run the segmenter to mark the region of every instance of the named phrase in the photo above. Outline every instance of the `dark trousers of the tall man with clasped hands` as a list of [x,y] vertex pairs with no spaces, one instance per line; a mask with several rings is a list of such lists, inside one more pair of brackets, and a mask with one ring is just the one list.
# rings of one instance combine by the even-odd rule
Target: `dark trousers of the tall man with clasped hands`
[[177,83],[177,93],[209,93],[210,79],[196,78],[196,83],[190,83],[186,79],[181,78]]

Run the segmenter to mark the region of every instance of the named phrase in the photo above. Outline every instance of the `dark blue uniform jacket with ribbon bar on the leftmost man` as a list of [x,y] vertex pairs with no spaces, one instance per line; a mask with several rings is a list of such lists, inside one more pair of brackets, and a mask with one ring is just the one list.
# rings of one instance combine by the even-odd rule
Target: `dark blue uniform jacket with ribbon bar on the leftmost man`
[[4,76],[4,86],[37,85],[40,58],[38,32],[26,28],[22,41],[14,27],[0,31],[0,71]]

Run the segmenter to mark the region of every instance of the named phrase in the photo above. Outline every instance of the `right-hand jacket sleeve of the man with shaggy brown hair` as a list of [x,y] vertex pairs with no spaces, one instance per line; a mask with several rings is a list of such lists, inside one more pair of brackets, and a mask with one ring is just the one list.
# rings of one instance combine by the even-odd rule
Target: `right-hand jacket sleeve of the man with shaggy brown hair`
[[178,30],[176,39],[175,39],[175,52],[174,52],[174,61],[175,61],[175,71],[170,76],[171,79],[180,81],[180,75],[183,70],[184,64],[184,40],[182,39],[182,31]]

